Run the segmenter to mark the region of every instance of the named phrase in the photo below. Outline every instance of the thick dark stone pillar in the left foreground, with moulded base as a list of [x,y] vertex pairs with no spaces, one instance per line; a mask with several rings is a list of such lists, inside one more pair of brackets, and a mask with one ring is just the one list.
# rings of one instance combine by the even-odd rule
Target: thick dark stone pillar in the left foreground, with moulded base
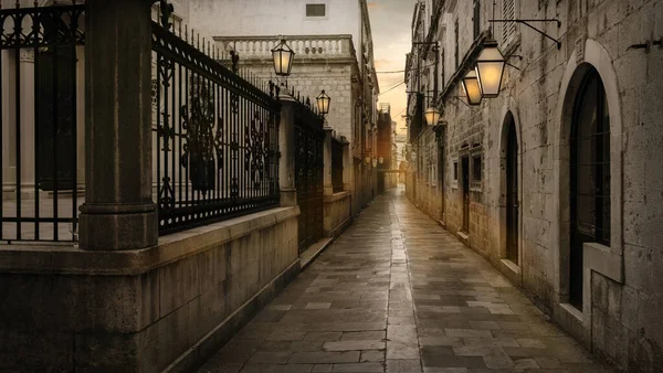
[[137,249],[158,238],[151,199],[151,1],[88,0],[86,199],[82,248]]

